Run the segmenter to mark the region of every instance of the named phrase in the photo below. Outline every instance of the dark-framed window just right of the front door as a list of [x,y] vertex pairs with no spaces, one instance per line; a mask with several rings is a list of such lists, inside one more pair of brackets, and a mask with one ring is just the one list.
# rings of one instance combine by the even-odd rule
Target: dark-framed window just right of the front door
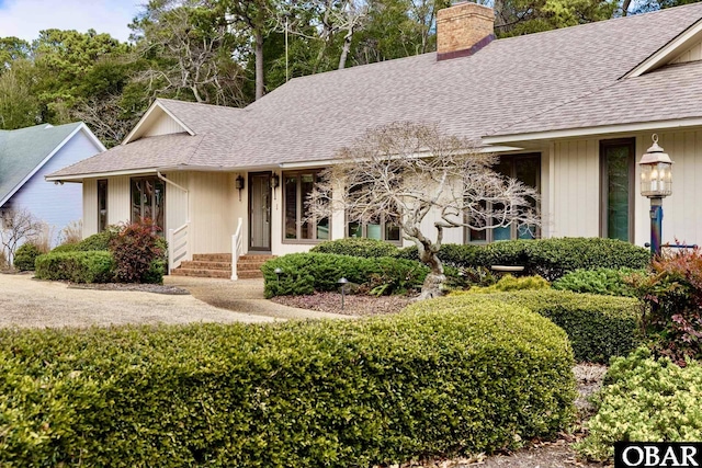
[[318,171],[283,174],[284,240],[329,239],[329,218],[312,219],[306,206],[318,180]]

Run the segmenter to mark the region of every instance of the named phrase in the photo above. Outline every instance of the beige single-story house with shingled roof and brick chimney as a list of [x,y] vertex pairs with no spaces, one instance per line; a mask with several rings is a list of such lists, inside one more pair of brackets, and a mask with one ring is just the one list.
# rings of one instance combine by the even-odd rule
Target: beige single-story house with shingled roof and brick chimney
[[[455,4],[438,14],[437,53],[295,78],[245,109],[157,99],[122,145],[47,180],[82,183],[86,236],[155,218],[174,236],[173,267],[349,236],[401,243],[397,229],[350,226],[343,213],[301,220],[339,148],[412,121],[478,141],[537,187],[542,237],[643,246],[649,202],[636,162],[655,133],[675,161],[664,241],[702,243],[702,3],[503,39],[492,23],[489,8]],[[452,229],[444,242],[517,236]]]

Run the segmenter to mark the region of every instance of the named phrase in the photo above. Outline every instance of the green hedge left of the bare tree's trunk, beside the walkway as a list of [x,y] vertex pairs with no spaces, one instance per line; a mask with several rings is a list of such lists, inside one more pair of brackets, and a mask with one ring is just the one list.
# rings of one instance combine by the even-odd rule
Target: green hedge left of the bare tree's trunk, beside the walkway
[[[283,273],[279,277],[275,269]],[[411,260],[393,258],[365,259],[332,253],[292,253],[265,262],[261,267],[265,297],[337,290],[346,277],[353,284],[370,287],[386,285],[384,292],[404,293],[419,288],[429,269]]]

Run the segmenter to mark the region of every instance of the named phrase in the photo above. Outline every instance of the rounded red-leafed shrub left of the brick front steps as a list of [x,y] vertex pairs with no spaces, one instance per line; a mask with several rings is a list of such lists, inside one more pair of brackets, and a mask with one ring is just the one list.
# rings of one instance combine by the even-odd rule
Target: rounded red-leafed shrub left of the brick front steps
[[154,275],[155,261],[162,258],[163,242],[159,227],[150,219],[122,226],[110,240],[110,251],[116,262],[115,277],[123,283],[160,283],[162,275]]

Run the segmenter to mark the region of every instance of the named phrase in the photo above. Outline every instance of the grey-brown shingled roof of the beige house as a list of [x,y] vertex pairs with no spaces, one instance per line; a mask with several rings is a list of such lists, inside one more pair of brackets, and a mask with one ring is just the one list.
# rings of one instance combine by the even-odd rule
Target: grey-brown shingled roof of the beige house
[[[244,110],[160,100],[195,133],[183,136],[193,141],[190,149],[179,138],[143,138],[52,178],[117,167],[249,169],[325,161],[367,128],[396,121],[435,123],[479,142],[534,128],[702,116],[694,92],[702,80],[699,64],[622,78],[701,19],[702,3],[694,3],[494,41],[468,57],[438,61],[432,53],[313,75]],[[652,100],[664,103],[659,111],[646,109]],[[113,156],[118,163],[110,161]]]

